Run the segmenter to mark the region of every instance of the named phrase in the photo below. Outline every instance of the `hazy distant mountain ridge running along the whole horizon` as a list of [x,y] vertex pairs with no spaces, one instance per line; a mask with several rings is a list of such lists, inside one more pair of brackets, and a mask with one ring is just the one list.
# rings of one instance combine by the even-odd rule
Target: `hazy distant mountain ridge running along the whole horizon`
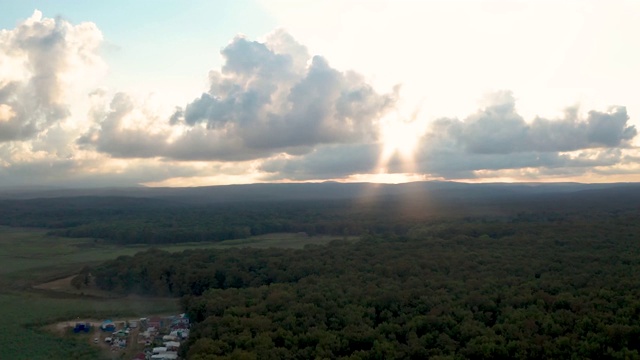
[[578,192],[640,191],[640,183],[481,183],[424,181],[402,184],[378,183],[263,183],[203,187],[112,187],[93,189],[0,188],[0,199],[66,197],[152,198],[183,203],[226,203],[246,201],[347,200],[366,197],[424,195],[452,199],[489,199],[548,196]]

